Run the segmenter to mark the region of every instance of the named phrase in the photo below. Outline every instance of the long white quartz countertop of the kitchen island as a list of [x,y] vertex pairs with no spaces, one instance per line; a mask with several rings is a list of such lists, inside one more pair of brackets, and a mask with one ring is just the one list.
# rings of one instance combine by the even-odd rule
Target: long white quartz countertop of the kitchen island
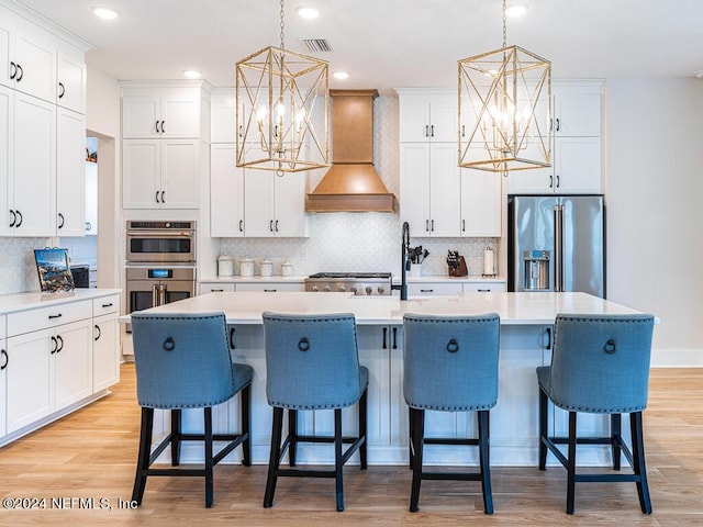
[[[261,324],[265,311],[354,313],[359,325],[402,324],[403,314],[478,315],[498,313],[503,325],[554,324],[558,313],[634,314],[624,305],[587,293],[459,293],[401,301],[395,296],[349,293],[214,292],[147,310],[153,313],[224,312],[230,324]],[[129,315],[120,322],[130,322]]]

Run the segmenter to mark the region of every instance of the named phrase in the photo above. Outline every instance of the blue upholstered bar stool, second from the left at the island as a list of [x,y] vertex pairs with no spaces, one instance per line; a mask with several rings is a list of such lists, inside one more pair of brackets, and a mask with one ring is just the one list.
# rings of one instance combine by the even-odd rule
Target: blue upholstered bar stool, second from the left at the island
[[[359,451],[366,469],[367,404],[369,371],[359,366],[356,321],[353,314],[284,315],[264,313],[266,339],[266,396],[274,407],[271,452],[264,507],[274,505],[278,476],[334,478],[337,511],[344,511],[342,469]],[[359,433],[342,435],[342,408],[359,403]],[[288,410],[288,436],[281,446],[283,410]],[[298,434],[298,412],[334,410],[334,437]],[[332,442],[334,470],[295,467],[299,442]],[[350,446],[343,452],[343,444]],[[289,469],[280,462],[288,449]]]

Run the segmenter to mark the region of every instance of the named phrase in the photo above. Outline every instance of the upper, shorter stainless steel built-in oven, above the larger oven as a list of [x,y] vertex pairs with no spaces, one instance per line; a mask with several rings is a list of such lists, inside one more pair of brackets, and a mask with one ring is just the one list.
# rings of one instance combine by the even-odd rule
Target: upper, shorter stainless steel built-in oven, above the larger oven
[[129,221],[129,264],[196,264],[196,222]]

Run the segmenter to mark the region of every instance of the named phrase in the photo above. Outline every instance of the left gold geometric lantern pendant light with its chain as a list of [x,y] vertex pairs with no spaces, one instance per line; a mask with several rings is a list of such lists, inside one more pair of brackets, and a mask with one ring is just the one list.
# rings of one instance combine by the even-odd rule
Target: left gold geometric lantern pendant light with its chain
[[330,165],[327,63],[269,46],[236,63],[236,165],[277,175]]

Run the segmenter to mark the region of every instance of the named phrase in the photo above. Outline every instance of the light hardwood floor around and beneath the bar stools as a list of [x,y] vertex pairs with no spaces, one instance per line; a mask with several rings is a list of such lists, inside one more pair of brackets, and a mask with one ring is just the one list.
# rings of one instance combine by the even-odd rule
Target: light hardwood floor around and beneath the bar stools
[[[577,485],[576,514],[563,512],[561,468],[493,468],[495,514],[482,512],[477,482],[423,483],[421,511],[408,512],[411,473],[404,467],[345,468],[344,513],[334,508],[332,480],[282,479],[270,509],[261,507],[266,467],[215,468],[215,503],[204,508],[199,478],[152,478],[143,506],[119,509],[131,497],[140,410],[133,365],[123,365],[113,393],[0,449],[0,497],[45,497],[47,509],[0,511],[1,526],[18,525],[703,525],[703,369],[652,370],[645,412],[645,448],[654,514],[643,515],[633,483]],[[107,498],[112,511],[57,509],[51,498]],[[71,503],[64,501],[65,506]],[[105,502],[107,503],[107,502]]]

